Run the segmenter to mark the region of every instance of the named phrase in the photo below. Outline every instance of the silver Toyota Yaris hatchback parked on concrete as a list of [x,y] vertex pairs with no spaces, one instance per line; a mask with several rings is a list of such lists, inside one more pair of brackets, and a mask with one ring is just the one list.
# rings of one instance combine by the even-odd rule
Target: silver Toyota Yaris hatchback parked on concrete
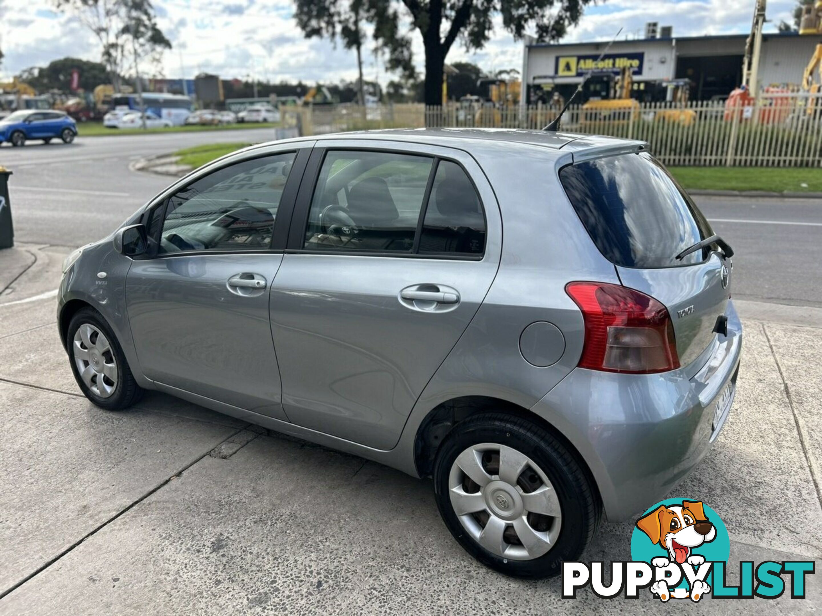
[[704,457],[732,250],[640,141],[408,130],[256,145],[66,261],[97,406],[157,389],[432,477],[489,567],[547,577]]

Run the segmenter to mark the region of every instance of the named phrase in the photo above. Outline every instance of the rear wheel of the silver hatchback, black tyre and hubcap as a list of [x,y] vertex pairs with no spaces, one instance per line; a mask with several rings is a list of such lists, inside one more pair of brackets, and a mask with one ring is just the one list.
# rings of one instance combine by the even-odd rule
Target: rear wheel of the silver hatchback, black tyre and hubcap
[[503,413],[469,417],[434,466],[436,505],[460,545],[515,577],[543,578],[579,559],[601,508],[575,456],[540,425]]

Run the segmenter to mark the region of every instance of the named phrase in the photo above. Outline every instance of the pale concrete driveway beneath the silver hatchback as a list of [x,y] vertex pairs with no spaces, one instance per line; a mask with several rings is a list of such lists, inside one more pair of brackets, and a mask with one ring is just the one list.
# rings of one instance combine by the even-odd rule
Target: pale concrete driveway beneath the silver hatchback
[[[24,263],[22,252],[33,264],[0,304],[0,613],[658,612],[650,594],[562,600],[559,580],[483,568],[446,531],[430,481],[160,394],[129,411],[93,407],[58,341],[53,297],[41,297],[67,249],[21,246],[0,264]],[[741,302],[732,416],[672,494],[723,517],[729,582],[739,560],[822,555],[822,310],[797,309],[814,326],[780,310]],[[584,559],[630,559],[631,530],[604,522]],[[810,613],[820,579],[808,578],[806,600],[674,609]]]

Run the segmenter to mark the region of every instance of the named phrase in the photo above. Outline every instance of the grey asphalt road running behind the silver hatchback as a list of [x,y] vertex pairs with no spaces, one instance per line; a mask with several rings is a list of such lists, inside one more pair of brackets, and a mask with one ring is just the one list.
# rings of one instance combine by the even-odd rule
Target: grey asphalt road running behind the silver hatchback
[[[81,128],[82,130],[82,128]],[[0,147],[12,169],[16,240],[81,246],[104,237],[170,182],[128,165],[215,141],[261,142],[272,129],[79,137],[72,145]],[[734,297],[822,307],[822,200],[697,197],[737,252]]]

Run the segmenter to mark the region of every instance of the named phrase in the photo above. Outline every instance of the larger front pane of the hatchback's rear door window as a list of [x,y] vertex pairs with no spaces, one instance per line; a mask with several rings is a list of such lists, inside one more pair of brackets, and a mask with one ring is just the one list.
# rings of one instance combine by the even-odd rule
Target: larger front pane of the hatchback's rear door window
[[304,247],[411,252],[433,160],[330,151],[312,199]]

